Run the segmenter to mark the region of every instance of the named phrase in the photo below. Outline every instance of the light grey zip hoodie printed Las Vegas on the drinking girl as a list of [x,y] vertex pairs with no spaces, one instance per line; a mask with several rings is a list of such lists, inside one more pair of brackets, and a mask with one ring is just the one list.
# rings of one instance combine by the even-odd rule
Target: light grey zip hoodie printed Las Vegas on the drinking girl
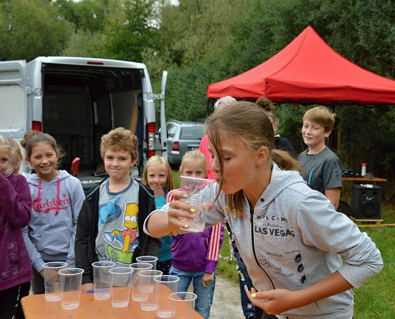
[[[211,191],[203,190],[202,203],[213,202],[218,188],[214,184]],[[167,212],[168,205],[162,210]],[[254,286],[264,291],[301,290],[336,270],[358,288],[383,268],[380,251],[366,233],[337,213],[324,195],[308,187],[298,172],[281,171],[276,164],[253,211],[244,196],[244,215],[230,215],[226,195],[221,193],[207,214],[206,227],[225,218]],[[351,319],[353,308],[350,289],[280,315]]]

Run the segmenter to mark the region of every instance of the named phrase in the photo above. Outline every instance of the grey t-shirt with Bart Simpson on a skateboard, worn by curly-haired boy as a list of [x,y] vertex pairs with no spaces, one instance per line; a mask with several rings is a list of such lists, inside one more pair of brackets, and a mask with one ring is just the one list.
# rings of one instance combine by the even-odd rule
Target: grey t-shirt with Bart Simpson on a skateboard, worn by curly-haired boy
[[133,251],[139,245],[139,184],[130,178],[129,186],[112,193],[108,183],[100,185],[96,254],[100,261],[131,264]]

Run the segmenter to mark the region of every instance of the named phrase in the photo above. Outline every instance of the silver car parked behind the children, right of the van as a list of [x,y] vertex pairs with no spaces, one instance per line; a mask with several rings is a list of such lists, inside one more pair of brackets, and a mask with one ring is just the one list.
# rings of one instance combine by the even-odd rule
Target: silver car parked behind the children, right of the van
[[185,152],[199,149],[199,142],[204,135],[203,127],[202,122],[166,122],[167,160],[170,164],[180,164]]

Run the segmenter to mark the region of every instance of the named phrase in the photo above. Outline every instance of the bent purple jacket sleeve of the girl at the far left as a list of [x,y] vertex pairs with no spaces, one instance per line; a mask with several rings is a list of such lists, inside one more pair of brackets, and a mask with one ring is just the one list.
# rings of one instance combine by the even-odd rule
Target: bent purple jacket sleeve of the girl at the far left
[[16,186],[18,189],[0,174],[0,211],[10,224],[22,228],[30,221],[32,196],[25,177],[18,178]]

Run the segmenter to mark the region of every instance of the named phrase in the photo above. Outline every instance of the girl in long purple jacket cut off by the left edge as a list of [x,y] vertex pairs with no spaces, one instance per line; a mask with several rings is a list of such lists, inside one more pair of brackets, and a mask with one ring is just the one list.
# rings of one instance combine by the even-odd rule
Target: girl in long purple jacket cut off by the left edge
[[21,299],[29,294],[32,265],[22,236],[30,221],[32,197],[26,178],[12,174],[10,144],[0,135],[0,311],[24,318]]

